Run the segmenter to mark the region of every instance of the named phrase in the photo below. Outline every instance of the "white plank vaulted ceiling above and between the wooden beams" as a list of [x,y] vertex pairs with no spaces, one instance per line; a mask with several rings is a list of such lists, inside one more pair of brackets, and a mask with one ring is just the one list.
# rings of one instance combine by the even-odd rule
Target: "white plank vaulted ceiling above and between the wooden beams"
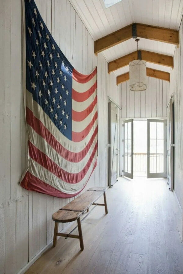
[[[183,0],[122,0],[105,8],[103,0],[70,0],[94,40],[106,36],[131,23],[142,23],[178,30]],[[174,55],[175,45],[140,39],[138,48],[161,54]],[[107,62],[136,50],[135,39],[129,39],[102,52]],[[170,68],[147,63],[147,67],[170,72]],[[116,70],[120,75],[128,66]]]

